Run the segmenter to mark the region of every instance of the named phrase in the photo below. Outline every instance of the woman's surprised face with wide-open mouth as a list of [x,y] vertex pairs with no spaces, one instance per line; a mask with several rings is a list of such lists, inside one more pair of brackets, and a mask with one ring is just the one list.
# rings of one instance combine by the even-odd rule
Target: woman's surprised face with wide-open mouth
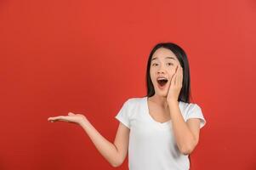
[[[155,94],[166,97],[171,79],[176,71],[179,60],[176,55],[167,48],[158,48],[151,59],[151,81],[153,82]],[[159,77],[168,80],[163,86],[157,82]]]

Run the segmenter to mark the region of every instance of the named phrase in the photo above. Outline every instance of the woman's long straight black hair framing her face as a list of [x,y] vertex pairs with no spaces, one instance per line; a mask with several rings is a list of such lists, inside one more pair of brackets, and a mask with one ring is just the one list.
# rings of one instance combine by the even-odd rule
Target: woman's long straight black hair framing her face
[[[151,50],[151,54],[147,61],[147,68],[146,68],[146,88],[147,88],[147,95],[146,97],[151,97],[155,94],[155,89],[153,86],[153,83],[151,81],[151,59],[153,54],[156,52],[156,49],[158,48],[167,48],[170,49],[179,60],[179,64],[182,66],[183,70],[183,82],[182,82],[182,88],[179,93],[179,99],[178,101],[183,101],[185,103],[191,103],[191,76],[190,76],[190,66],[189,61],[187,59],[187,56],[185,54],[185,51],[183,48],[179,47],[179,45],[175,44],[174,42],[160,42],[156,44],[154,48]],[[189,155],[189,160],[191,163],[191,156]]]

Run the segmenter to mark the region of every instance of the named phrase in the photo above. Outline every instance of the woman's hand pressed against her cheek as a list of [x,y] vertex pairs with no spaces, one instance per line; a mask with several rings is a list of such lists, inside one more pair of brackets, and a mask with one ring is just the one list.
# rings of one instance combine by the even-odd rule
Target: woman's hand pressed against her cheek
[[177,65],[174,76],[171,79],[171,83],[168,88],[167,101],[173,102],[178,101],[179,93],[182,88],[183,71],[181,65]]

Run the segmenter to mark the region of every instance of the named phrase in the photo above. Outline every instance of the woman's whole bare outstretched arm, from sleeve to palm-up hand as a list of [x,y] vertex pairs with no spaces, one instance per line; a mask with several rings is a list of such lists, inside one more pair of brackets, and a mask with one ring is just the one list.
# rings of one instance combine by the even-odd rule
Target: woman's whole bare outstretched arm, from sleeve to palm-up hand
[[95,128],[88,122],[88,119],[81,114],[72,114],[69,116],[56,116],[48,118],[48,121],[65,121],[76,122],[83,130],[88,134],[88,137],[92,140],[100,154],[105,157],[107,161],[111,163],[111,166],[118,167],[125,160],[128,152],[128,137],[129,128],[125,127],[121,122],[117,129],[116,139],[114,144],[105,139]]

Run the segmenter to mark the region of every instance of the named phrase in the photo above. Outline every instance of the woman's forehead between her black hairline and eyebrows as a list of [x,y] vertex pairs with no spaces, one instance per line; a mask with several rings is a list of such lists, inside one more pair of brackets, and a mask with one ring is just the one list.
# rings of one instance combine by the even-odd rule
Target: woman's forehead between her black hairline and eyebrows
[[175,61],[178,61],[176,55],[167,48],[158,48],[156,49],[155,53],[152,56],[151,60],[157,60],[157,59],[172,59]]

